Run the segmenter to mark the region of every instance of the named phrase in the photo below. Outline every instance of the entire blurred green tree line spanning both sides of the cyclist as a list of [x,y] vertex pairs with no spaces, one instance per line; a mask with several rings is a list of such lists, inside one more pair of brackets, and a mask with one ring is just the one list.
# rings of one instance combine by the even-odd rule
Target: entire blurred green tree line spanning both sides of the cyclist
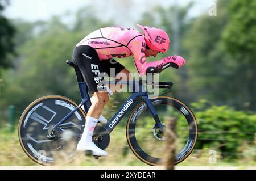
[[[192,4],[180,8],[179,52],[187,65],[160,74],[160,81],[174,82],[173,96],[186,103],[208,99],[217,105],[255,110],[255,0],[250,3],[251,6],[240,1],[218,1],[217,16],[202,14],[195,19],[188,18]],[[75,44],[88,33],[115,25],[96,18],[90,11],[92,7],[82,7],[69,25],[59,16],[48,22],[12,20],[18,56],[13,57],[14,69],[4,70],[1,76],[1,110],[14,104],[22,111],[36,98],[48,94],[80,100],[75,72],[64,61],[72,59]],[[154,15],[146,12],[139,23],[168,32],[171,47],[158,57],[163,58],[173,53],[175,6],[152,7],[152,11]],[[118,61],[136,71],[130,64],[132,58]],[[119,102],[125,98],[124,94],[115,97]]]

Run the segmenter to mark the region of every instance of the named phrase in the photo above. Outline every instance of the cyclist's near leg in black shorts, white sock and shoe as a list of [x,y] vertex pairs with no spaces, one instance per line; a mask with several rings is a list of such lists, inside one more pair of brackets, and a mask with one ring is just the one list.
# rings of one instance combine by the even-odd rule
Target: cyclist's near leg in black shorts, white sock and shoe
[[106,156],[108,153],[98,148],[92,142],[94,128],[109,98],[104,84],[104,77],[102,77],[101,74],[103,71],[98,54],[94,48],[82,45],[75,48],[73,60],[75,65],[82,72],[90,91],[92,91],[93,95],[96,97],[96,100],[88,110],[84,133],[82,134],[79,144],[77,144],[77,149],[81,151],[92,151],[93,155]]

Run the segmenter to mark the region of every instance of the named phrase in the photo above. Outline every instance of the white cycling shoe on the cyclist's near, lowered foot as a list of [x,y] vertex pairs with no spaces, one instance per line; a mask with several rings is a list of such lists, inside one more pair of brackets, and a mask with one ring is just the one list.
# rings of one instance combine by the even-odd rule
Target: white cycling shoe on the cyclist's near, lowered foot
[[76,149],[79,151],[92,151],[93,156],[102,156],[102,157],[108,156],[108,152],[98,148],[98,146],[96,146],[94,142],[79,141]]

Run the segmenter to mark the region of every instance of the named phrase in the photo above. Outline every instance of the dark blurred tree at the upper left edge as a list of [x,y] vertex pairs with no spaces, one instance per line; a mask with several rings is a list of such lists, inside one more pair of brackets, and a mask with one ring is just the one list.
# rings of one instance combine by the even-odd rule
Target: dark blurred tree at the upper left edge
[[6,2],[3,0],[0,1],[0,69],[11,67],[10,60],[7,57],[9,53],[14,52],[13,37],[15,30],[10,21],[2,15]]

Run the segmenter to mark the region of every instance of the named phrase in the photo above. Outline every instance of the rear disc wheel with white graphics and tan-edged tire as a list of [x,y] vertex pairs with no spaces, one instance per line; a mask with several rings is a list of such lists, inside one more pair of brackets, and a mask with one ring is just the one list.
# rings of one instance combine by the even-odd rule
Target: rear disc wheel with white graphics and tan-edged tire
[[84,131],[85,112],[79,108],[58,127],[57,140],[47,138],[51,129],[77,107],[64,96],[44,96],[32,102],[19,120],[19,142],[24,152],[40,165],[63,165],[80,155],[76,150]]

